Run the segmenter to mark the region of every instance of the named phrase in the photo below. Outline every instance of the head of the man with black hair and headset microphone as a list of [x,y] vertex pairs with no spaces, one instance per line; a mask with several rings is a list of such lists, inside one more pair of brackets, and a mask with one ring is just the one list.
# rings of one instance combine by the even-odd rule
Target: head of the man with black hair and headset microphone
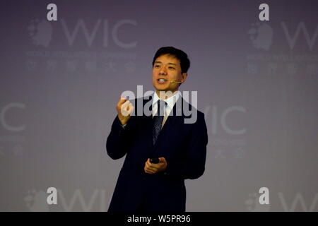
[[[190,61],[185,52],[175,47],[161,47],[153,57],[153,87],[157,91],[178,90],[187,79]],[[180,83],[173,83],[173,82]]]

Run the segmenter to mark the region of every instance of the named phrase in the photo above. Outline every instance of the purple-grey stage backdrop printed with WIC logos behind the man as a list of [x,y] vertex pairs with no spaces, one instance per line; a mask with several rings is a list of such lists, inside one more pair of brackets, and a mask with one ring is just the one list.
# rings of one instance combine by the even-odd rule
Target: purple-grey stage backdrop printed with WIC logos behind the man
[[189,54],[180,90],[198,92],[208,126],[187,211],[317,211],[317,6],[2,1],[0,210],[107,211],[124,161],[105,150],[115,105],[124,90],[153,90],[153,55],[173,46]]

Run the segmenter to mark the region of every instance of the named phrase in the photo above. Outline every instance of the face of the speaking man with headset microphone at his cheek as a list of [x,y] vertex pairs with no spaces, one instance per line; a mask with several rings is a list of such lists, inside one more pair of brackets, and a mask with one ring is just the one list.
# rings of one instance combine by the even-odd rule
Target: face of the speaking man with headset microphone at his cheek
[[153,87],[157,91],[178,90],[179,83],[170,83],[170,81],[184,82],[187,79],[187,73],[181,73],[179,59],[172,55],[161,55],[155,59],[153,64]]

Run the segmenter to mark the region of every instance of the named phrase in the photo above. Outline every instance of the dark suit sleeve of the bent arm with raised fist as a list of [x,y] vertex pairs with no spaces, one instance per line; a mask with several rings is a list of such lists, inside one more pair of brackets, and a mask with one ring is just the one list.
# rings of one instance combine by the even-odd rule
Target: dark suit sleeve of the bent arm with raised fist
[[126,126],[122,126],[117,116],[114,119],[110,135],[106,141],[107,154],[113,160],[124,157],[129,150],[134,139],[134,120],[134,117],[131,117]]

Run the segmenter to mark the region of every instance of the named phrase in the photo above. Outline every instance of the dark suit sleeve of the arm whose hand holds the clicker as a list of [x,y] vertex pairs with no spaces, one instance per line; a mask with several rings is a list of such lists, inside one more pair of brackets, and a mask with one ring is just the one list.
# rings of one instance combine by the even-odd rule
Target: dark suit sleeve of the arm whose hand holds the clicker
[[181,160],[172,160],[167,157],[167,168],[163,174],[165,177],[175,179],[196,179],[204,174],[206,164],[206,145],[208,133],[204,113],[198,112],[198,119],[194,123],[187,153]]

